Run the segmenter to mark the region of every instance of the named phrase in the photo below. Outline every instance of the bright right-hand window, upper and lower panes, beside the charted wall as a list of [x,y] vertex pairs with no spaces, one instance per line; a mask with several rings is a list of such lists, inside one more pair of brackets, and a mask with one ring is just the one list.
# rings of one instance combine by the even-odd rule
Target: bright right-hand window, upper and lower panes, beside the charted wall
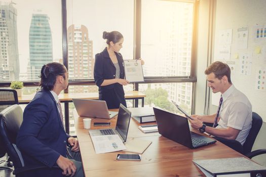
[[[191,74],[193,13],[193,3],[141,1],[141,58],[145,60],[144,76]],[[145,106],[159,106],[177,112],[171,103],[174,100],[187,112],[191,112],[191,82],[139,84],[139,91],[146,94]]]

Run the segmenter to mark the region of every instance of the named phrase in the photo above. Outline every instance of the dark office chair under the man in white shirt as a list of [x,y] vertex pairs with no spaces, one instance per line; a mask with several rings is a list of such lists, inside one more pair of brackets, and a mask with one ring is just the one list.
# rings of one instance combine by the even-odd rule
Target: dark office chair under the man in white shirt
[[255,157],[257,155],[266,154],[266,149],[259,149],[251,152],[252,146],[256,140],[261,125],[262,125],[262,118],[257,113],[252,112],[252,126],[251,129],[249,130],[249,134],[243,146],[241,145],[240,142],[236,140],[227,140],[220,137],[214,137],[214,139],[251,159],[252,157]]

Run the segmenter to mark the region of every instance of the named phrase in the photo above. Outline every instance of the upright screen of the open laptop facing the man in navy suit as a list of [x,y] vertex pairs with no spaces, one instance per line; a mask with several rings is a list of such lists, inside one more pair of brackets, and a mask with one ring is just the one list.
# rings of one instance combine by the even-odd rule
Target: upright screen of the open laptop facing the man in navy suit
[[116,130],[124,141],[127,140],[130,117],[131,112],[125,106],[120,104]]

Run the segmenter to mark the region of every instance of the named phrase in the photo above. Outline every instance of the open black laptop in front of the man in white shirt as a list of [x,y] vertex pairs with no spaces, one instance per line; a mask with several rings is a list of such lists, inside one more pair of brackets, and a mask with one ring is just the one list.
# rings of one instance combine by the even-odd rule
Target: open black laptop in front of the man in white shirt
[[211,138],[190,131],[188,120],[185,117],[158,108],[154,108],[154,114],[159,134],[174,142],[191,149],[207,146],[216,142]]

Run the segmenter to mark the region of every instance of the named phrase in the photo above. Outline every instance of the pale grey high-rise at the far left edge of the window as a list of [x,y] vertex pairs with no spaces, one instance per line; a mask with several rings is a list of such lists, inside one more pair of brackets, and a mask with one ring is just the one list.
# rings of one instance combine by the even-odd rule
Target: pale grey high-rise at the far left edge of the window
[[0,2],[0,81],[19,80],[17,10]]

